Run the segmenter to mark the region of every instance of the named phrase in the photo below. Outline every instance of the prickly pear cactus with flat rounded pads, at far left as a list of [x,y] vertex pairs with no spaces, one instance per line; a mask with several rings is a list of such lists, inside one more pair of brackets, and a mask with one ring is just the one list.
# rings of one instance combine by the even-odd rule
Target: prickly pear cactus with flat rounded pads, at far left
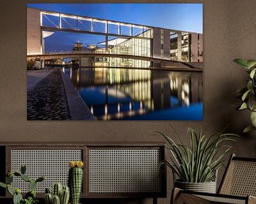
[[[14,181],[14,176],[18,176],[23,181],[28,182],[28,193],[26,193],[25,197],[21,195],[20,188],[13,188],[11,183]],[[13,203],[14,204],[35,204],[38,203],[36,199],[36,186],[38,182],[45,180],[45,176],[41,176],[38,179],[31,179],[28,175],[26,175],[26,165],[21,165],[21,172],[11,172],[9,171],[6,176],[6,183],[0,182],[0,186],[3,188],[7,188],[7,191],[13,196]]]

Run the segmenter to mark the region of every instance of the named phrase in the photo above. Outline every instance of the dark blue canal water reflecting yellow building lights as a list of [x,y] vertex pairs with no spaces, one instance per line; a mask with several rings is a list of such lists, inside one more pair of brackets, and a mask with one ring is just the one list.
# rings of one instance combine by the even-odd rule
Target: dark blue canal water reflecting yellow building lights
[[97,120],[203,120],[202,72],[63,68]]

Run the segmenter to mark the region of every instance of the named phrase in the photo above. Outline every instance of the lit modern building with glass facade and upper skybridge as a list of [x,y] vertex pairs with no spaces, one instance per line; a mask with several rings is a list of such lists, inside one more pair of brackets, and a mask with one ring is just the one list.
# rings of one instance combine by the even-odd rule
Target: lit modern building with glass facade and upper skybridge
[[[44,39],[55,31],[104,35],[105,41],[92,47],[93,52],[107,52],[116,55],[134,55],[178,62],[203,62],[203,34],[183,30],[156,28],[68,13],[43,11],[27,8],[28,53],[44,53]],[[104,48],[102,48],[102,45]],[[75,45],[81,50],[82,44]],[[88,48],[90,49],[90,48]],[[99,58],[102,66],[150,67],[146,60],[129,57]],[[88,59],[81,59],[80,65],[87,66]]]

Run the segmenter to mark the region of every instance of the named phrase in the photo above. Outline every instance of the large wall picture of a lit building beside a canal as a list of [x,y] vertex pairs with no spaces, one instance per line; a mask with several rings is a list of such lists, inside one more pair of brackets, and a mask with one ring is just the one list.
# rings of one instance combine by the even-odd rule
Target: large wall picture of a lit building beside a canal
[[27,4],[27,120],[203,120],[203,4]]

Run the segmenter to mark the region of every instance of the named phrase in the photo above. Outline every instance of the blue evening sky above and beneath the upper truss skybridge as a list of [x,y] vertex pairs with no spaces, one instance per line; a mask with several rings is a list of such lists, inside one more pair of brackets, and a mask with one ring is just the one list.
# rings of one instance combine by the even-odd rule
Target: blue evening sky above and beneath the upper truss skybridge
[[[203,4],[27,4],[31,8],[106,18],[174,30],[203,33]],[[85,45],[104,41],[103,36],[57,32],[46,38],[46,51],[71,50],[74,42]]]

